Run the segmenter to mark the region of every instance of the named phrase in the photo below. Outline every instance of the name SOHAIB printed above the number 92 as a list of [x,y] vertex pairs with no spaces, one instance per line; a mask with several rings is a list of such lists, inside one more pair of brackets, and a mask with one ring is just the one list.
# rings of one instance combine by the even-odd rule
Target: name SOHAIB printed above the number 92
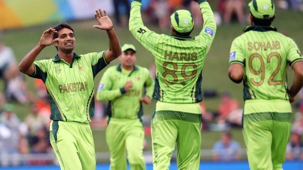
[[248,50],[267,50],[267,49],[280,49],[280,42],[279,41],[272,41],[272,42],[248,42]]

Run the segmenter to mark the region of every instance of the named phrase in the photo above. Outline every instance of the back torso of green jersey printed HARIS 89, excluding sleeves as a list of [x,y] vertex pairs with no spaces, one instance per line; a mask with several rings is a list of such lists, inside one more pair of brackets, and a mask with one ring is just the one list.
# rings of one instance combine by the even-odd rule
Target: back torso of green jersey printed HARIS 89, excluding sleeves
[[155,98],[168,103],[202,101],[202,67],[208,48],[198,36],[183,39],[162,34],[152,52],[156,56]]

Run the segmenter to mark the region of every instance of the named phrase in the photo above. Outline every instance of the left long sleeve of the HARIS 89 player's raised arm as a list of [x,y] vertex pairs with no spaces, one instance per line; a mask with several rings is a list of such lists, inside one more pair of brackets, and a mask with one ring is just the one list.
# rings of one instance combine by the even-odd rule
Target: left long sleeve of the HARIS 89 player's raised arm
[[160,40],[160,34],[149,30],[144,26],[141,18],[141,0],[133,1],[129,19],[129,31],[135,36],[135,39],[139,41],[142,46],[147,50],[156,50],[158,41]]

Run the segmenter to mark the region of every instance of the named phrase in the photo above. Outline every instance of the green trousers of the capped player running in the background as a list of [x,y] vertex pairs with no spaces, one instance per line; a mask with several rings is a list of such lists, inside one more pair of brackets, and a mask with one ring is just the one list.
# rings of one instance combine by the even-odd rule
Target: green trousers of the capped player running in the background
[[110,151],[110,170],[146,170],[143,157],[143,124],[139,119],[111,118],[106,129],[106,142]]

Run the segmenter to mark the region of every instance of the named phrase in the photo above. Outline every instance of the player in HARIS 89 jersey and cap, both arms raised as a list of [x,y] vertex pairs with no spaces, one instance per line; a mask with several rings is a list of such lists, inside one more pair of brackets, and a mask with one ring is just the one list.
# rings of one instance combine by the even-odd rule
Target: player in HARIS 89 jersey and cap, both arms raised
[[129,30],[152,53],[156,64],[154,98],[158,102],[152,119],[154,170],[168,170],[175,143],[178,169],[199,169],[202,68],[217,27],[208,2],[198,2],[204,23],[196,37],[190,36],[194,21],[189,11],[177,10],[170,16],[169,36],[144,26],[141,0],[132,2]]

